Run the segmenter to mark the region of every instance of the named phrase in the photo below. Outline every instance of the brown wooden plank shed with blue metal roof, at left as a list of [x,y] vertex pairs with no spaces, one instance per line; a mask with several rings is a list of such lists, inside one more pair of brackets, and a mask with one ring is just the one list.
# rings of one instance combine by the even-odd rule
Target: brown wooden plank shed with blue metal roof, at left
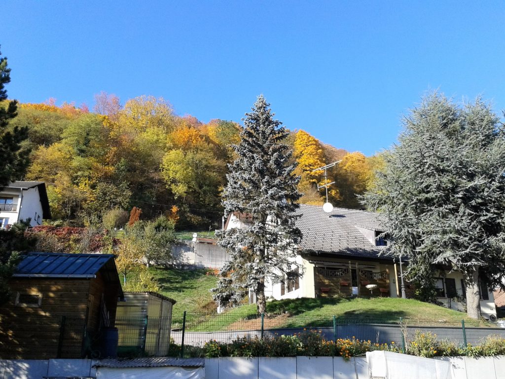
[[1,359],[98,356],[123,298],[112,254],[29,253],[9,287]]

